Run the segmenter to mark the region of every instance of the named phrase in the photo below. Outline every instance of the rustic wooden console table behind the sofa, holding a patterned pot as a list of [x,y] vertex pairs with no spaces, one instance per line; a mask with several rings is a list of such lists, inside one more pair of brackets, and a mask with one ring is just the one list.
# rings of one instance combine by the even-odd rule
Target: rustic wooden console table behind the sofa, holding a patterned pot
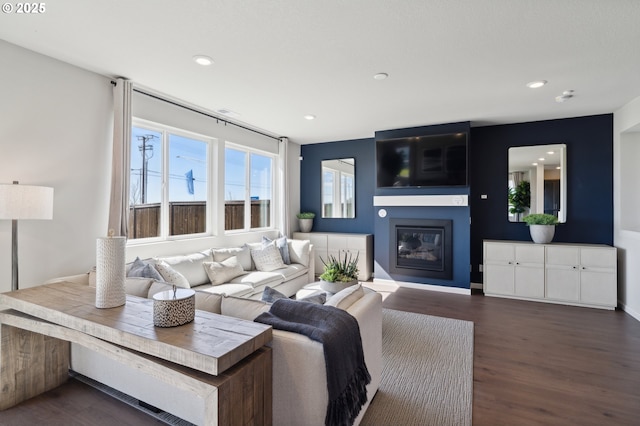
[[197,311],[157,328],[152,304],[98,309],[95,288],[66,282],[0,294],[0,410],[64,383],[72,342],[201,398],[203,424],[271,424],[271,327]]

